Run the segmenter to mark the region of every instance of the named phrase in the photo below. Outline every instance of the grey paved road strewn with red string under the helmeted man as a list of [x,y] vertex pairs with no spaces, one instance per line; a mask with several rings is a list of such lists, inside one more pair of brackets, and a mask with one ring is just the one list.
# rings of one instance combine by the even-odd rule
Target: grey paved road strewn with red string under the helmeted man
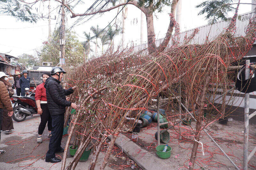
[[[48,151],[49,138],[47,138],[47,127],[44,129],[43,133],[43,143],[37,144],[37,132],[38,125],[41,119],[38,114],[28,116],[23,122],[13,121],[14,130],[12,134],[6,135],[4,132],[1,134],[0,149],[4,149],[6,153],[0,156],[0,169],[9,170],[9,169],[24,169],[29,167],[29,169],[60,169],[61,162],[57,164],[46,163],[44,160],[44,155]],[[62,138],[62,147],[65,147],[67,136]],[[92,151],[93,152],[93,151]],[[91,153],[92,153],[91,152]],[[62,157],[62,153],[59,153]],[[90,155],[88,161],[79,161],[76,166],[76,170],[87,169],[92,154]],[[100,169],[100,164],[104,158],[104,153],[100,153],[99,162],[96,165],[95,169]],[[15,160],[15,161],[13,161]],[[67,164],[72,160],[72,157],[69,156]],[[11,162],[10,162],[11,161]],[[25,162],[26,161],[26,162]],[[7,163],[8,162],[8,163]],[[31,164],[31,165],[30,165]],[[106,167],[105,169],[111,169]]]

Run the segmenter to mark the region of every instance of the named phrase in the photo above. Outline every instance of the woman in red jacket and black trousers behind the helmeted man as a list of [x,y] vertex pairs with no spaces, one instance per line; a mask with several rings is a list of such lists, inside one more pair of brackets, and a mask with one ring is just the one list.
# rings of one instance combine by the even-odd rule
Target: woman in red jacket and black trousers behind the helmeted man
[[44,128],[45,128],[47,122],[48,122],[47,126],[48,126],[48,131],[49,131],[48,137],[50,138],[52,136],[52,134],[51,134],[52,117],[49,113],[49,109],[47,106],[46,92],[45,92],[45,88],[44,88],[45,80],[49,77],[51,77],[51,74],[49,72],[45,72],[42,75],[43,83],[36,87],[35,99],[36,99],[37,113],[40,114],[40,117],[41,117],[41,122],[38,127],[37,143],[43,142],[42,134],[44,132]]

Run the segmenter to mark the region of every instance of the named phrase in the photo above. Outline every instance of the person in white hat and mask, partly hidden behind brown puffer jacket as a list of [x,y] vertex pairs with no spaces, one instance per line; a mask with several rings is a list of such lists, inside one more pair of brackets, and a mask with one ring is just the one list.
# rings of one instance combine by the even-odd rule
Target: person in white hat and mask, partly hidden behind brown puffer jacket
[[[12,89],[12,85],[8,81],[8,76],[4,74],[4,72],[0,72],[0,81],[4,83],[6,89],[9,92],[9,97],[12,97],[14,94],[14,91]],[[5,131],[5,134],[10,134],[12,133],[13,128],[13,122],[12,122],[12,117],[8,115],[8,110],[6,107],[3,108],[3,120],[2,120],[2,126],[1,126],[2,131]]]

